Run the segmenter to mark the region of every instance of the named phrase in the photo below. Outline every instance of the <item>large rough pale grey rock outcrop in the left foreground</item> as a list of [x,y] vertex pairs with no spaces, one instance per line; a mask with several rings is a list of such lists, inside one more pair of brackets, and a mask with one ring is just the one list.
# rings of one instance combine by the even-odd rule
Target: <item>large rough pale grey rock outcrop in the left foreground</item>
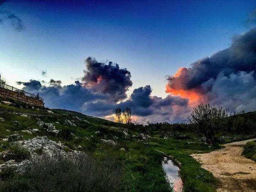
[[[25,148],[30,152],[28,159],[21,162],[16,162],[15,160],[9,160],[4,164],[0,165],[0,171],[5,167],[13,167],[17,172],[22,172],[25,166],[31,165],[31,162],[37,161],[40,158],[48,158],[51,160],[62,160],[66,159],[71,162],[75,162],[80,158],[85,158],[87,155],[84,152],[70,150],[66,152],[64,146],[61,143],[56,143],[52,140],[49,140],[46,136],[35,137],[33,139],[28,139],[24,141],[14,142],[18,146]],[[37,153],[37,150],[42,150],[41,154]],[[0,153],[0,156],[6,154],[6,151]]]

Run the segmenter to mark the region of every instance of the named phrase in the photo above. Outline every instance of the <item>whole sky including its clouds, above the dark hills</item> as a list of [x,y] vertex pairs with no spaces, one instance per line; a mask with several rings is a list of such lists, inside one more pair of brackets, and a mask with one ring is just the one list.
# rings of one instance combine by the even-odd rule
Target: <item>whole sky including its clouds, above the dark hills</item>
[[[255,86],[241,80],[254,81],[255,66],[247,54],[241,60],[230,53],[243,34],[254,37],[255,10],[250,0],[9,0],[0,6],[0,73],[10,85],[40,92],[47,107],[111,120],[117,106],[132,106],[141,122],[181,121],[199,102],[256,110],[247,95],[234,96]],[[211,57],[220,50],[226,51]],[[249,67],[227,64],[225,54]],[[203,58],[210,59],[198,61]],[[239,80],[241,89],[231,90]],[[74,94],[74,87],[81,92]]]

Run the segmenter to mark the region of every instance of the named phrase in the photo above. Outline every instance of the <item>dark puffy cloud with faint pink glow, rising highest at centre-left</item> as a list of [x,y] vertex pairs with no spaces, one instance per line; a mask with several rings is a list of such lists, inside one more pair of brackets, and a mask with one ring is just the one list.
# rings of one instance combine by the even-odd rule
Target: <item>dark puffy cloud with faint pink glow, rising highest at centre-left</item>
[[127,97],[126,91],[132,86],[130,72],[125,68],[119,68],[116,63],[101,63],[96,59],[86,59],[87,70],[82,81],[85,85],[97,92],[110,94],[114,101]]

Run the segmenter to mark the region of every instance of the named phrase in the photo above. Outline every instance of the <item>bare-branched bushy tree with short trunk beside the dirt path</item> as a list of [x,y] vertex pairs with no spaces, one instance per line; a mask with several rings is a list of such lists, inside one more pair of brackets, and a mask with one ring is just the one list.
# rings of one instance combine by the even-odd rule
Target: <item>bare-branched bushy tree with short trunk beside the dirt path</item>
[[209,103],[204,105],[201,103],[198,108],[193,108],[188,123],[197,127],[199,132],[203,133],[209,144],[215,144],[214,136],[221,129],[224,118],[228,117],[228,110],[222,107],[210,107]]

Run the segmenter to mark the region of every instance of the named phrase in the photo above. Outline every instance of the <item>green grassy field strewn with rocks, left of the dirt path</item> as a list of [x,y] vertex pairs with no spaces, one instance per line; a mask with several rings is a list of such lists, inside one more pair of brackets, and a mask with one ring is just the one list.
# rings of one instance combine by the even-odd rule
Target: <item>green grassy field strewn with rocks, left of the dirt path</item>
[[[201,134],[182,132],[180,135],[186,137],[179,137],[176,133],[175,136],[166,139],[162,137],[162,130],[147,131],[128,127],[129,137],[126,137],[122,125],[85,116],[81,113],[52,110],[54,114],[51,114],[44,109],[20,108],[2,104],[0,104],[0,111],[0,118],[5,119],[4,122],[0,122],[0,138],[7,138],[15,133],[23,135],[23,139],[46,135],[53,141],[63,143],[67,151],[70,149],[84,151],[98,164],[101,164],[106,158],[114,160],[122,169],[120,183],[116,191],[172,191],[162,169],[163,156],[155,149],[163,151],[181,162],[180,175],[184,191],[216,191],[218,181],[210,172],[202,169],[199,162],[191,158],[190,154],[206,153],[221,146],[209,146],[199,141],[199,138],[202,137]],[[39,116],[23,117],[18,113],[38,114]],[[75,116],[88,122],[80,121]],[[49,134],[44,128],[38,127],[36,125],[38,118],[44,123],[53,123],[59,133]],[[64,123],[66,119],[73,121],[77,127],[66,126]],[[13,121],[18,121],[20,124],[14,125]],[[22,132],[22,130],[33,128],[39,129],[39,132],[32,134]],[[98,131],[99,133],[97,133]],[[132,137],[132,135],[145,132],[151,138],[139,141]],[[165,133],[171,134],[168,131]],[[101,142],[101,139],[114,140],[114,137],[118,137],[117,145],[112,146]],[[1,141],[0,144],[0,152],[13,147],[8,141]],[[16,182],[13,181],[13,177],[4,181],[5,187],[7,186],[5,190],[12,191],[13,188],[17,188],[21,177],[15,178]],[[31,179],[24,179],[24,176],[22,182],[31,185]],[[2,189],[0,186],[0,191]]]

